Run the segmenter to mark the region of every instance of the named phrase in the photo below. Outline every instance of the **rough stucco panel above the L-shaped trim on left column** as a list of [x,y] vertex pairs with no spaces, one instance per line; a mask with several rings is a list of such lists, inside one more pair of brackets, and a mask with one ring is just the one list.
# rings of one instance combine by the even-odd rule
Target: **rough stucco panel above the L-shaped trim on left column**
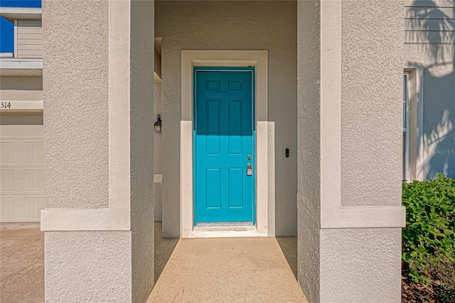
[[43,1],[48,209],[109,204],[107,27],[107,1]]

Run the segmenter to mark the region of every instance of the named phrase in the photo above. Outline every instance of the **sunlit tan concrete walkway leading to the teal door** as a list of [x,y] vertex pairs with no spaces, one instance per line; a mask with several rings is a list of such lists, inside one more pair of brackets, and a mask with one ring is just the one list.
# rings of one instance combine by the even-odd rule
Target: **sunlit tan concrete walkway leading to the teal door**
[[275,238],[178,241],[151,302],[308,302]]

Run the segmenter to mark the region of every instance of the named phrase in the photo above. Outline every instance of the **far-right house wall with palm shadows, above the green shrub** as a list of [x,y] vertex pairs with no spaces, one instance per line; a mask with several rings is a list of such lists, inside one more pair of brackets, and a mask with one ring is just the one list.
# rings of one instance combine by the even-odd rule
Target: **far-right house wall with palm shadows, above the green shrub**
[[422,143],[427,180],[438,172],[455,178],[455,0],[436,7],[440,2],[414,0],[406,16],[405,40],[419,43],[431,55],[431,63],[424,65]]

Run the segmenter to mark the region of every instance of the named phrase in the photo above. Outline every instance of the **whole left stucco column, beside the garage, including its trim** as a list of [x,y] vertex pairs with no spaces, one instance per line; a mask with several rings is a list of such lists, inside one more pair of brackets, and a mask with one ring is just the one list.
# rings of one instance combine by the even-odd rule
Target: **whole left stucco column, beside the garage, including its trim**
[[43,1],[46,302],[154,285],[153,1]]

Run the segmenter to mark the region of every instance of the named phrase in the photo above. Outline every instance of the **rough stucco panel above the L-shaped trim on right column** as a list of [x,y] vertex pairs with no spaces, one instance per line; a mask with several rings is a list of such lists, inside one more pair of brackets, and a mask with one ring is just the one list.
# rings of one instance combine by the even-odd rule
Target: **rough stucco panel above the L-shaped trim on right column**
[[[341,204],[400,205],[403,1],[342,1]],[[368,24],[368,26],[365,26]]]

